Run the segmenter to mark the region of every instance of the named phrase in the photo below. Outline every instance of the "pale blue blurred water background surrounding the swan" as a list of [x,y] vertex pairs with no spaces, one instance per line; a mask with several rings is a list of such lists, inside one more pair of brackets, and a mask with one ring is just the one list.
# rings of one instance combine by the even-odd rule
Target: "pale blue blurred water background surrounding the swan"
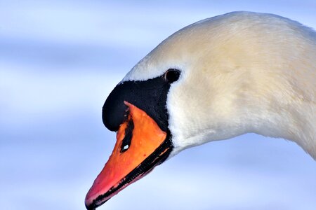
[[[316,1],[0,1],[1,209],[85,209],[114,85],[174,31],[232,10],[316,27]],[[316,163],[246,134],[183,151],[100,209],[316,209]]]

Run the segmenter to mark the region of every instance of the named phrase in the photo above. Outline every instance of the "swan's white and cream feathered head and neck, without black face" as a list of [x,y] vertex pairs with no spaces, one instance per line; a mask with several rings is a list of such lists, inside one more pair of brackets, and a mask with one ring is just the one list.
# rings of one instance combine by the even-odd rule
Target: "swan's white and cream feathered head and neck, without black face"
[[124,80],[180,69],[167,99],[173,155],[247,132],[316,158],[316,33],[277,15],[235,12],[167,38]]

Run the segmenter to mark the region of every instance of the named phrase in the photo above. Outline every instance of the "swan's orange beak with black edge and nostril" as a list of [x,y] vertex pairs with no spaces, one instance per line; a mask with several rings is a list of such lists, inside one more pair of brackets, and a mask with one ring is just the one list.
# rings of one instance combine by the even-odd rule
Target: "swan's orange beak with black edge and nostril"
[[86,208],[95,209],[148,174],[170,153],[169,136],[157,123],[129,102],[127,120],[119,126],[117,142],[109,160],[86,195]]

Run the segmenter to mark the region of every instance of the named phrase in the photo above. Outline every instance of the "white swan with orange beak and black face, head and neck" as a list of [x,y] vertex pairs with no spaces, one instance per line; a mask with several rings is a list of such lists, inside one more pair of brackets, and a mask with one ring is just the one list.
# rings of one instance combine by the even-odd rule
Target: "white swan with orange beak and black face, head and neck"
[[316,32],[277,15],[233,12],[172,34],[112,90],[117,132],[86,195],[95,209],[185,148],[254,132],[316,158]]

